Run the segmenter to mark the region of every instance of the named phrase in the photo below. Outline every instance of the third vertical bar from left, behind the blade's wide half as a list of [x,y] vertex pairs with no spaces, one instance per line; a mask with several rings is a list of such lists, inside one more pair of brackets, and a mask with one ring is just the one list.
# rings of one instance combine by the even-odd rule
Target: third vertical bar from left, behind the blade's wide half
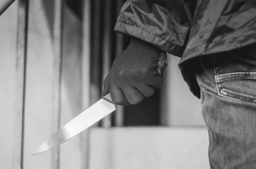
[[[81,74],[82,74],[82,109],[90,106],[90,57],[91,57],[91,6],[92,0],[84,0],[82,16],[82,51],[81,51]],[[89,169],[90,155],[90,129],[82,132],[84,144],[83,149],[83,168]]]

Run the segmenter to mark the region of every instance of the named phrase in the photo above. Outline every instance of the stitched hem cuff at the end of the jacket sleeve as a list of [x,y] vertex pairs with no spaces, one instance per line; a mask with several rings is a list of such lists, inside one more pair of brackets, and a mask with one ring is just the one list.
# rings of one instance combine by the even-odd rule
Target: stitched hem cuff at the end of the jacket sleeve
[[170,44],[167,40],[163,39],[162,37],[158,37],[156,34],[149,32],[148,30],[145,30],[138,26],[117,21],[114,27],[114,31],[122,34],[127,34],[133,37],[137,37],[141,40],[151,43],[154,46],[157,46],[159,49],[169,54],[175,55],[177,57],[182,57],[184,51],[183,46]]

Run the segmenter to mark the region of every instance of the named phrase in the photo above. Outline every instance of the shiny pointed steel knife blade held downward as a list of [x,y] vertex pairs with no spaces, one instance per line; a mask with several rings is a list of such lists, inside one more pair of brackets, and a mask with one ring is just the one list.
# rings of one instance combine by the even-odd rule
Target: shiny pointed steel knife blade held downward
[[111,100],[110,94],[108,93],[108,95],[102,97],[102,99],[90,106],[84,112],[81,112],[81,114],[62,126],[57,132],[53,133],[35,150],[32,155],[36,155],[59,146],[88,127],[92,126],[103,117],[109,115],[114,110],[116,110],[116,107]]

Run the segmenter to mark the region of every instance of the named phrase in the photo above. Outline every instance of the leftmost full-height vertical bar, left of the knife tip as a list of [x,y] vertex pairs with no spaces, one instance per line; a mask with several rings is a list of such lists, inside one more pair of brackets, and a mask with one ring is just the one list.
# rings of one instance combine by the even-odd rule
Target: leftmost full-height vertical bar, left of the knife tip
[[23,168],[24,105],[29,0],[19,0],[12,169]]

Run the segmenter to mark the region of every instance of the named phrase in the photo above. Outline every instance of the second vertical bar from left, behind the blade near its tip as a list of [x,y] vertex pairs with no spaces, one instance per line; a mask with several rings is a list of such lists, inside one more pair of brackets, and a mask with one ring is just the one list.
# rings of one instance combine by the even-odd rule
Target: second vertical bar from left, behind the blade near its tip
[[[52,73],[52,132],[60,128],[61,106],[60,106],[60,88],[61,88],[61,35],[62,35],[62,4],[63,0],[54,0],[54,23],[53,23],[53,73]],[[59,169],[60,148],[52,150],[52,169]]]

